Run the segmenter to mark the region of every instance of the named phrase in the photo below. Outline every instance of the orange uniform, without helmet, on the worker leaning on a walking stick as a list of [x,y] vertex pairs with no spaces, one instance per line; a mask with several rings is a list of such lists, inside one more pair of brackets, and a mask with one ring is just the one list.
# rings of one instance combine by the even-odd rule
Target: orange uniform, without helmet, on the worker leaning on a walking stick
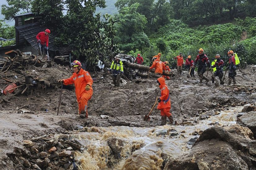
[[[87,103],[88,100],[91,99],[93,92],[92,83],[93,80],[91,75],[88,71],[85,71],[82,68],[80,68],[80,71],[78,73],[73,73],[73,75],[69,79],[63,80],[64,85],[75,85],[75,93],[79,107],[79,114],[81,114],[81,112],[85,112],[86,117],[88,117]],[[85,90],[87,84],[90,85],[90,90]]]

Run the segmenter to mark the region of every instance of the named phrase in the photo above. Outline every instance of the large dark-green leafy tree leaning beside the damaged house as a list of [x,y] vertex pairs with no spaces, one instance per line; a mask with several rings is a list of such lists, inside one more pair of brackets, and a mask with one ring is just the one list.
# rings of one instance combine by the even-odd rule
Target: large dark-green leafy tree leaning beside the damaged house
[[[57,45],[70,46],[75,58],[93,69],[99,59],[108,63],[109,56],[119,52],[113,42],[116,21],[108,14],[103,15],[105,21],[100,14],[94,16],[97,6],[106,7],[105,0],[35,0],[32,11],[43,16],[42,23],[57,32]],[[66,15],[62,14],[63,10],[67,11]]]

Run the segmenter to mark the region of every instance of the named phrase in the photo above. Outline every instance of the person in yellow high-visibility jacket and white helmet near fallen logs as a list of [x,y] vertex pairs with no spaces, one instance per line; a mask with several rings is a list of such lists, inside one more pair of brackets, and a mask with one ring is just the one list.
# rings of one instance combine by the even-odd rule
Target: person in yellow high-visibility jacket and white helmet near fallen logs
[[119,87],[120,86],[120,82],[119,82],[120,76],[121,76],[121,74],[124,74],[124,66],[123,66],[123,62],[120,60],[119,55],[116,55],[114,57],[114,59],[115,60],[112,62],[110,69],[108,71],[108,74],[113,69],[112,70],[112,79],[113,79],[114,85]]

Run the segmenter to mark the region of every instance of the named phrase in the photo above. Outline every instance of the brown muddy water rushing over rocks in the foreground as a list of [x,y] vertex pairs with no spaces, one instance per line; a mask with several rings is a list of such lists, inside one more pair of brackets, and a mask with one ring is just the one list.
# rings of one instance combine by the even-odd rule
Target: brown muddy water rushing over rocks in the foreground
[[[70,138],[79,140],[85,146],[85,151],[76,152],[75,155],[79,169],[160,170],[164,160],[192,147],[188,141],[199,137],[195,131],[203,131],[213,124],[236,124],[237,113],[242,108],[229,108],[205,120],[191,119],[197,122],[194,125],[164,125],[154,128],[92,127],[85,128],[87,132],[71,134]],[[160,132],[166,134],[159,135]],[[114,143],[112,140],[111,145],[113,138],[117,140]]]

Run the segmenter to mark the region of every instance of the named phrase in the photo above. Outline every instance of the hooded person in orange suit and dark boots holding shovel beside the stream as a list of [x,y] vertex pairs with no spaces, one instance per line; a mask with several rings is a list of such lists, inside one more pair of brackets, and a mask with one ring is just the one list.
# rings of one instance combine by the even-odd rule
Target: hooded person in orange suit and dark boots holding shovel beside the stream
[[160,77],[157,79],[157,83],[159,84],[159,87],[161,89],[161,96],[158,98],[158,106],[157,109],[161,111],[161,121],[162,124],[166,124],[166,117],[170,120],[170,123],[173,123],[173,116],[170,113],[171,109],[171,100],[170,100],[170,94],[169,89],[167,85],[165,84],[165,80],[163,77]]

